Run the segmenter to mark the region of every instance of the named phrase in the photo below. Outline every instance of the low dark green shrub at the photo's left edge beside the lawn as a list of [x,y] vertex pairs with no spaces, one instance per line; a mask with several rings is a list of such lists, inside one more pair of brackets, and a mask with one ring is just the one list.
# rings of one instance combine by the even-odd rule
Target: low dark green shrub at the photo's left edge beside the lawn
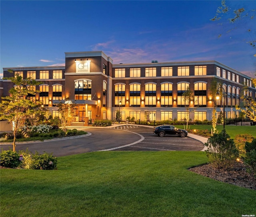
[[12,150],[3,151],[0,154],[0,166],[17,168],[22,163],[23,156]]

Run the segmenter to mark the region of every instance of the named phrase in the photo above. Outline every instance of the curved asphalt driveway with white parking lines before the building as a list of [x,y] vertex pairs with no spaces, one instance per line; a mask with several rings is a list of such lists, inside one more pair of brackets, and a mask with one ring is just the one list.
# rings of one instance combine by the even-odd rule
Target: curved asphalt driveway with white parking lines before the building
[[[54,156],[67,156],[86,152],[116,150],[116,151],[200,151],[203,144],[189,137],[178,136],[158,137],[152,133],[152,128],[143,126],[118,126],[113,128],[86,128],[87,136],[16,144],[16,150],[49,152]],[[1,145],[8,150],[12,145]]]

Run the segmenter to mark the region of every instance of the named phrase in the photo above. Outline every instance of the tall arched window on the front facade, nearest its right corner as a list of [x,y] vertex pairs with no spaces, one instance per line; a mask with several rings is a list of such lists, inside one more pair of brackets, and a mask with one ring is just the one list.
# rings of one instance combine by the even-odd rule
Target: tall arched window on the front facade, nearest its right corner
[[198,82],[194,84],[195,106],[206,107],[206,83]]

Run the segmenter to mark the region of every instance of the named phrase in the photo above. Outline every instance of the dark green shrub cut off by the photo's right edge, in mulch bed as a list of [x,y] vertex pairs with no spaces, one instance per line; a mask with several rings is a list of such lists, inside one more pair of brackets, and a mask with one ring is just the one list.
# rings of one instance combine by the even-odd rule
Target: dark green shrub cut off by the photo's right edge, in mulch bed
[[249,166],[249,172],[256,176],[256,138],[252,142],[245,143],[245,150],[244,163]]

